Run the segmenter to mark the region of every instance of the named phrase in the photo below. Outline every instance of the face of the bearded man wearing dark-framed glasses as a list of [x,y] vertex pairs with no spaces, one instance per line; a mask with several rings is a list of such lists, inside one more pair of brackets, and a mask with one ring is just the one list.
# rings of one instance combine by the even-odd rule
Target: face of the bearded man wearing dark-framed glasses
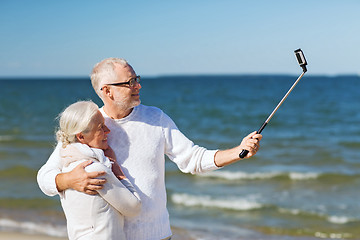
[[[115,67],[117,79],[113,83],[127,82],[132,78],[136,78],[134,69],[130,65],[125,67],[117,64]],[[136,83],[134,87],[128,84],[120,86],[110,86],[113,89],[114,104],[121,109],[131,109],[140,104],[140,83]]]

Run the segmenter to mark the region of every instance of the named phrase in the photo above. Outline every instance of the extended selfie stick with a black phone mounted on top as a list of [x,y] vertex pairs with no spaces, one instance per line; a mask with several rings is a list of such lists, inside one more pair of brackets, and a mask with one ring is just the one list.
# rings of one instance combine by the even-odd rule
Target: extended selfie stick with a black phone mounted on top
[[[304,56],[304,53],[301,51],[301,49],[297,49],[294,51],[295,52],[295,57],[297,59],[297,61],[299,62],[300,67],[302,67],[303,72],[301,73],[301,75],[298,77],[298,79],[295,81],[295,83],[292,85],[292,87],[289,89],[289,91],[285,94],[285,96],[283,97],[283,99],[281,99],[281,101],[279,102],[279,104],[276,106],[276,108],[274,109],[274,111],[270,114],[270,116],[266,119],[266,121],[263,123],[263,125],[260,127],[260,129],[257,131],[258,134],[260,134],[262,132],[262,130],[264,130],[264,128],[266,127],[266,125],[270,122],[271,118],[274,116],[274,114],[276,113],[276,111],[279,109],[279,107],[281,106],[281,104],[283,104],[283,102],[286,100],[286,98],[288,97],[288,95],[291,93],[291,91],[294,89],[294,87],[296,86],[296,84],[298,84],[298,82],[300,81],[300,79],[304,76],[304,74],[306,73],[307,69],[306,69],[306,59]],[[243,149],[241,151],[241,153],[239,154],[240,158],[244,158],[246,157],[246,155],[249,153],[248,150]]]

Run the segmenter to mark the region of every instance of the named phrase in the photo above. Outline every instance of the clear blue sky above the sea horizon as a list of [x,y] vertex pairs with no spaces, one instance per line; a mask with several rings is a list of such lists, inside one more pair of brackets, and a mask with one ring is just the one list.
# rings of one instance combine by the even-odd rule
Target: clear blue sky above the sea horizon
[[1,77],[86,77],[121,57],[142,76],[360,75],[359,0],[1,0]]

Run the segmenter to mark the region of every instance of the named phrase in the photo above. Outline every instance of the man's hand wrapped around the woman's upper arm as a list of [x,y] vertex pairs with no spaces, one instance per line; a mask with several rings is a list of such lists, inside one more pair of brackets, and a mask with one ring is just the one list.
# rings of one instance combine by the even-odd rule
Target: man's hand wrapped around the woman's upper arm
[[98,179],[97,177],[105,175],[105,172],[86,172],[85,167],[91,163],[92,161],[89,160],[77,165],[68,173],[58,174],[55,178],[58,191],[61,192],[68,188],[72,188],[76,191],[90,195],[97,194],[97,190],[102,189],[103,185],[106,183],[106,179]]

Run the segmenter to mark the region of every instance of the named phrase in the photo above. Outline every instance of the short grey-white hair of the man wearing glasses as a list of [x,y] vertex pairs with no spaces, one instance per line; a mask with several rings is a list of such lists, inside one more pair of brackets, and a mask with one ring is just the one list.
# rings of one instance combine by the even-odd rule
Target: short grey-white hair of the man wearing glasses
[[100,90],[102,85],[104,83],[110,83],[117,78],[115,64],[120,64],[122,66],[129,65],[128,62],[123,58],[106,58],[97,63],[90,74],[91,84],[96,94],[100,98],[102,98],[102,93]]

